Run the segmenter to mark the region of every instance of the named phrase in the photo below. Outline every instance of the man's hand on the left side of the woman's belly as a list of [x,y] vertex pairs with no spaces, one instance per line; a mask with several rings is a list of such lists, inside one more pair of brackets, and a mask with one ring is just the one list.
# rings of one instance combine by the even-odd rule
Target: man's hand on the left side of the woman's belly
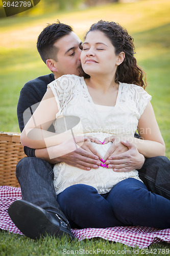
[[[95,150],[91,142],[102,144],[98,139],[90,136],[86,136],[87,139],[83,145],[77,150],[72,151],[64,156],[53,159],[53,163],[65,162],[68,165],[78,167],[84,170],[90,170],[91,168],[97,169],[101,164],[102,157]],[[79,145],[79,143],[77,143]]]

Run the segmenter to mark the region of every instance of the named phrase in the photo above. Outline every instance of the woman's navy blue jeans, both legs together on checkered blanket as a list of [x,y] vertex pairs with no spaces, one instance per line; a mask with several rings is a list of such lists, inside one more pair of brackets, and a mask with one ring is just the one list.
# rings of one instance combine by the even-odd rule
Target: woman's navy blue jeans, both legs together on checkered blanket
[[92,186],[72,185],[57,200],[73,228],[125,225],[170,228],[170,201],[151,193],[134,178],[120,181],[103,195]]

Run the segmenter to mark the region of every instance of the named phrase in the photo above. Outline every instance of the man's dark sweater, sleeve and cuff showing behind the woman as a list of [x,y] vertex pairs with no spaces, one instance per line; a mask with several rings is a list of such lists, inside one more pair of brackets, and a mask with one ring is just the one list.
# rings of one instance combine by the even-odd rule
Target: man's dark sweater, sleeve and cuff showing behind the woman
[[[25,110],[30,108],[32,105],[41,101],[46,92],[47,84],[51,83],[52,81],[54,81],[53,74],[39,76],[27,82],[21,89],[17,105],[17,117],[21,132],[24,128],[23,112],[25,112]],[[33,148],[25,146],[24,152],[28,157],[35,157],[35,150]]]

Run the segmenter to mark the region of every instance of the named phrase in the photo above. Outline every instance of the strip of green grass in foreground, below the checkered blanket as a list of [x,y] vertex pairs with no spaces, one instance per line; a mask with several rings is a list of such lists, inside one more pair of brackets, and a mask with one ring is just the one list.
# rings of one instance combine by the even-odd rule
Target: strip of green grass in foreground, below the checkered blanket
[[[94,238],[82,241],[58,240],[46,237],[37,241],[17,234],[2,231],[0,233],[1,256],[31,256],[31,255],[170,255],[167,243],[153,244],[149,248],[135,249],[122,243],[109,242]],[[161,249],[161,250],[160,250]],[[110,253],[109,253],[110,251]],[[78,253],[79,252],[79,253]],[[85,252],[85,253],[82,253]],[[115,253],[114,253],[115,252]],[[153,253],[154,252],[154,253]]]

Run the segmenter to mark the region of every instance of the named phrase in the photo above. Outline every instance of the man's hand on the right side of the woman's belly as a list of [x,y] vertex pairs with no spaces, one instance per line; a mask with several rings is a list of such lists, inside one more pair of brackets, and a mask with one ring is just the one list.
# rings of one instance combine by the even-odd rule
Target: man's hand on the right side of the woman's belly
[[128,141],[122,141],[128,151],[110,156],[105,162],[108,168],[113,168],[114,172],[131,172],[134,169],[140,169],[144,163],[144,156],[137,150],[136,145]]

